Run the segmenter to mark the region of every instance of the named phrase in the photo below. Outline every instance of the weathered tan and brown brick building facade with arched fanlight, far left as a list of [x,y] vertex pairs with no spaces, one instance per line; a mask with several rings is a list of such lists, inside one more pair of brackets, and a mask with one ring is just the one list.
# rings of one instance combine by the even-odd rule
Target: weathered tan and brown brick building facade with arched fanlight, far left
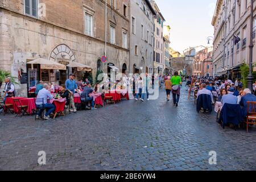
[[[19,70],[31,71],[39,81],[40,66],[31,70],[27,62],[43,57],[63,64],[76,61],[89,65],[93,78],[97,70],[109,73],[108,65],[125,72],[129,68],[129,3],[129,0],[107,0],[105,28],[103,0],[1,1],[0,69],[10,71],[15,77]],[[105,53],[107,61],[102,63]],[[61,73],[61,77],[66,78],[68,72],[72,70]],[[54,83],[56,79],[49,81]],[[28,86],[16,85],[18,95],[25,96]]]

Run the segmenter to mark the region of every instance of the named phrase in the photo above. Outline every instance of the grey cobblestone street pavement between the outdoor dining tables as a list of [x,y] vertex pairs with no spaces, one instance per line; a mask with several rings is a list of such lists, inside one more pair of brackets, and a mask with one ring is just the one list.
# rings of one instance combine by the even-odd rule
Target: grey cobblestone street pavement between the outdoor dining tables
[[[122,101],[52,121],[0,115],[1,170],[255,170],[256,130],[223,130],[197,114],[187,92],[166,101]],[[47,164],[38,165],[46,151]],[[217,165],[209,165],[210,151]]]

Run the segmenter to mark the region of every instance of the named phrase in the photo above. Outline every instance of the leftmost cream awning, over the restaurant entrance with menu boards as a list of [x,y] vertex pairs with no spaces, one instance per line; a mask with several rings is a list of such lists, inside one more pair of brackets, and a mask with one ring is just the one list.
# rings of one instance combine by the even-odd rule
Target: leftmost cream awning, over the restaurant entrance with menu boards
[[43,59],[43,58],[38,58],[33,61],[27,62],[27,64],[40,64],[41,69],[61,69],[61,70],[66,70],[66,66],[60,63],[56,63],[55,61]]

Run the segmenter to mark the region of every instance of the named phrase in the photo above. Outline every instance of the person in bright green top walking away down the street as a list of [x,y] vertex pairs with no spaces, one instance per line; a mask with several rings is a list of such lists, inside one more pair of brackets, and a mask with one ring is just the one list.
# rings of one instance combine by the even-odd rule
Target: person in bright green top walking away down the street
[[174,73],[174,76],[171,78],[172,84],[172,98],[174,99],[174,105],[178,106],[180,100],[180,85],[182,84],[181,77],[178,72]]

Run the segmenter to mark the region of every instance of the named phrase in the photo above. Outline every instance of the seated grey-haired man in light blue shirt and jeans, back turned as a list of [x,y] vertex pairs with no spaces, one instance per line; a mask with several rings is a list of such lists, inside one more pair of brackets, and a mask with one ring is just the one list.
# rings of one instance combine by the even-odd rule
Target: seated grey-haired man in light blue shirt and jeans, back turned
[[[36,119],[40,119],[42,112],[44,109],[47,110],[46,115],[44,115],[44,119],[51,119],[49,115],[55,111],[55,105],[53,104],[47,104],[47,100],[51,100],[53,97],[49,90],[47,90],[48,84],[43,85],[43,89],[38,92],[38,97],[36,97],[36,107],[38,107],[40,110],[38,113],[36,113]],[[39,101],[38,99],[43,99],[43,101]],[[44,109],[43,109],[44,108]]]

